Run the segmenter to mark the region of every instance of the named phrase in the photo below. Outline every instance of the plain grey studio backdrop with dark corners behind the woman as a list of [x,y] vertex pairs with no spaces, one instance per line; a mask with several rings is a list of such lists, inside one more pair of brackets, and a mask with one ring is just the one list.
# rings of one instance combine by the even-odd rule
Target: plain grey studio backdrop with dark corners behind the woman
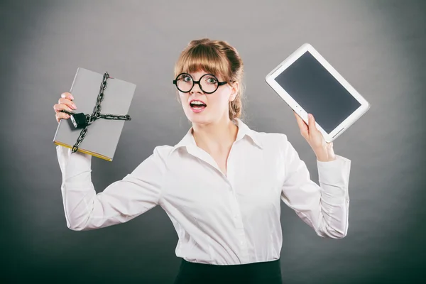
[[93,159],[101,192],[185,135],[173,65],[190,40],[208,37],[245,62],[246,124],[286,133],[315,182],[315,154],[265,75],[309,42],[371,103],[334,142],[352,161],[346,238],[322,239],[282,202],[285,283],[420,283],[426,1],[14,0],[1,1],[0,23],[1,278],[173,281],[178,237],[160,207],[119,226],[67,229],[53,104],[77,67],[137,84],[114,161]]

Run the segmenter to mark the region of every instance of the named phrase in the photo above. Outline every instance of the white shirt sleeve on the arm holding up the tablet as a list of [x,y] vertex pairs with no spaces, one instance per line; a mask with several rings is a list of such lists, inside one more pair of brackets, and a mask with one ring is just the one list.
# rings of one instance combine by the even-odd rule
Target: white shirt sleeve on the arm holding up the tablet
[[347,234],[349,217],[349,173],[351,160],[336,155],[336,160],[317,160],[320,185],[310,180],[304,161],[285,136],[283,151],[285,182],[281,199],[318,236],[341,239]]

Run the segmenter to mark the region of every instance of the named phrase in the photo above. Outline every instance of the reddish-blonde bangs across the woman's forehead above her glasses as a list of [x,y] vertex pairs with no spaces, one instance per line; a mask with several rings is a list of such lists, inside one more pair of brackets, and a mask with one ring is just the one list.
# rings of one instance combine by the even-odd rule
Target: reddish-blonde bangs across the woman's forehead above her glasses
[[180,73],[192,73],[204,70],[229,81],[229,66],[224,55],[211,45],[196,45],[182,52],[175,65],[175,77]]

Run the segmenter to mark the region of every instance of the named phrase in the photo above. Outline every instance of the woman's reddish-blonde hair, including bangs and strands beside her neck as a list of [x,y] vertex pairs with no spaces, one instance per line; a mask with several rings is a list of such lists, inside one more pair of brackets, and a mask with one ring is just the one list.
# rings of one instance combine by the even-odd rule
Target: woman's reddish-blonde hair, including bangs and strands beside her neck
[[242,98],[244,94],[244,64],[234,47],[224,40],[202,38],[192,40],[182,50],[175,64],[175,77],[180,73],[204,70],[213,75],[221,75],[228,83],[239,82],[239,90],[234,101],[229,102],[229,119],[242,115]]

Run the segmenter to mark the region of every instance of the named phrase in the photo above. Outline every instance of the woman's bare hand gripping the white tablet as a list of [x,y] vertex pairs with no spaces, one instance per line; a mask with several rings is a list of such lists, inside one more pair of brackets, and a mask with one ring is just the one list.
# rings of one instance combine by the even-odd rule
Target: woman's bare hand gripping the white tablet
[[314,116],[312,116],[312,114],[308,114],[308,124],[306,124],[295,111],[293,111],[293,113],[296,116],[297,124],[300,128],[300,134],[302,134],[303,138],[305,138],[307,143],[315,152],[315,155],[317,155],[317,160],[334,160],[336,157],[334,155],[333,142],[327,143],[324,140],[324,136],[322,136],[322,133],[315,125]]

